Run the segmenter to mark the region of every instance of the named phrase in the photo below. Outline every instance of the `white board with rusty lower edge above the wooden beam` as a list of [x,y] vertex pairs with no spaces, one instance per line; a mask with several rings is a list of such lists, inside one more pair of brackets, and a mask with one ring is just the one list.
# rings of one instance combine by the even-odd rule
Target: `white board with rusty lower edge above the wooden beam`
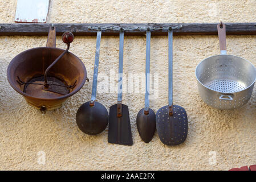
[[46,23],[50,0],[18,0],[15,22]]

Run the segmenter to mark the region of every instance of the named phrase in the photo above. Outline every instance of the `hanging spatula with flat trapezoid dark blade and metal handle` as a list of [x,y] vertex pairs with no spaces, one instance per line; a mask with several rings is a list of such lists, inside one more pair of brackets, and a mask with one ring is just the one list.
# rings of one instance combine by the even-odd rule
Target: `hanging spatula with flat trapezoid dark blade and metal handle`
[[123,51],[124,31],[120,30],[119,38],[119,81],[117,104],[109,108],[108,142],[132,145],[132,131],[127,105],[122,104],[123,91]]

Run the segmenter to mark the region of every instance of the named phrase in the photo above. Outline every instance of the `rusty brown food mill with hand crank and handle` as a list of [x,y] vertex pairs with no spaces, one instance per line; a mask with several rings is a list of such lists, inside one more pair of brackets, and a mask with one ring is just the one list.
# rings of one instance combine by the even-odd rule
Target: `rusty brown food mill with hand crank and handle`
[[46,47],[19,53],[7,68],[10,85],[25,97],[29,105],[42,112],[62,106],[87,80],[83,62],[68,52],[70,44],[65,51],[56,48],[55,42],[56,31],[52,26]]

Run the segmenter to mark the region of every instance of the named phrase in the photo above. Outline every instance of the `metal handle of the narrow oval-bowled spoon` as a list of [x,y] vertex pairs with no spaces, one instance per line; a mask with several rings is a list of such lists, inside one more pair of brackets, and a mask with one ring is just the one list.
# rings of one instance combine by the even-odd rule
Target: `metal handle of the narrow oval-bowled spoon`
[[148,114],[149,109],[149,83],[150,83],[150,40],[151,40],[151,31],[147,30],[147,45],[146,45],[146,88],[145,88],[145,109],[144,113]]

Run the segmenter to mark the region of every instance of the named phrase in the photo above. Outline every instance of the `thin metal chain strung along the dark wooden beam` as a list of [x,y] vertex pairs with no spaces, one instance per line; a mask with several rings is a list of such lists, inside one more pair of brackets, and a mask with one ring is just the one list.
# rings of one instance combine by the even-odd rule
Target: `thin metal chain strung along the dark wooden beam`
[[105,30],[113,30],[113,31],[132,31],[132,30],[162,30],[162,31],[168,31],[168,30],[174,30],[174,29],[180,29],[182,28],[182,24],[180,24],[179,26],[174,26],[174,27],[128,27],[128,28],[122,28],[122,27],[107,27],[107,26],[88,26],[88,29],[90,30],[101,30],[101,31],[105,31]]

